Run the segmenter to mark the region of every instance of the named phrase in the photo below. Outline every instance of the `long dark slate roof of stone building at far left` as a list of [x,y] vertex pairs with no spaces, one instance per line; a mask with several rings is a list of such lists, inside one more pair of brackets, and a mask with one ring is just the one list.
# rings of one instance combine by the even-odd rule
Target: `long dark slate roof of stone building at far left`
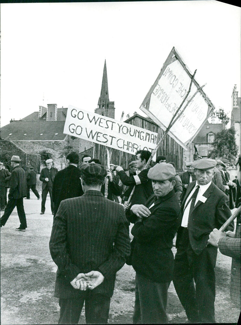
[[[14,121],[1,128],[1,138],[12,141],[64,140],[66,137],[66,134],[63,134],[64,123],[65,121]],[[9,135],[10,133],[11,135]],[[40,135],[41,133],[42,135]],[[56,133],[58,134],[55,135]]]

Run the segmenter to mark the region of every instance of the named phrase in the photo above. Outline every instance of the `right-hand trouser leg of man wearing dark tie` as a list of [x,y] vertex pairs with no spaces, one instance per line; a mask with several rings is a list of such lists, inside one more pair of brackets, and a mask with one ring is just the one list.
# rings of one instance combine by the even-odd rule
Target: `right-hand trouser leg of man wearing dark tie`
[[196,257],[193,265],[194,280],[196,285],[196,303],[198,308],[199,322],[216,323],[215,302],[215,262],[217,248],[206,247]]

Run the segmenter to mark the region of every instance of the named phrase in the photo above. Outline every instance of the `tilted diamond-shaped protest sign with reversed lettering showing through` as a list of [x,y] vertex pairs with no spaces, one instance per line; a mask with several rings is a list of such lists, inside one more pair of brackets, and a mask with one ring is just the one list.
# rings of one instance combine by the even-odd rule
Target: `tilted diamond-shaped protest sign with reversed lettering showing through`
[[[192,74],[173,47],[140,109],[165,131],[188,92],[191,78]],[[182,108],[199,88],[194,79]],[[168,135],[187,149],[187,145],[191,143],[214,109],[210,99],[201,89],[170,128]]]

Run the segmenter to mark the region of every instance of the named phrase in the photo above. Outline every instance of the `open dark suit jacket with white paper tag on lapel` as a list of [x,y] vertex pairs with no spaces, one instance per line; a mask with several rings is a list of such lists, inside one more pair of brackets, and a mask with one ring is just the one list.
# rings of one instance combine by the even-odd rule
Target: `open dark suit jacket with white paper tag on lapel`
[[[196,181],[190,183],[187,188],[186,196],[181,204],[181,210],[190,192],[194,188]],[[188,218],[189,241],[193,251],[199,255],[208,243],[210,232],[219,229],[230,217],[231,211],[228,207],[228,197],[213,183],[203,194],[207,200],[205,203],[198,201]],[[227,228],[234,230],[234,222]],[[179,247],[181,228],[178,230],[176,247]],[[216,257],[215,257],[216,259]]]

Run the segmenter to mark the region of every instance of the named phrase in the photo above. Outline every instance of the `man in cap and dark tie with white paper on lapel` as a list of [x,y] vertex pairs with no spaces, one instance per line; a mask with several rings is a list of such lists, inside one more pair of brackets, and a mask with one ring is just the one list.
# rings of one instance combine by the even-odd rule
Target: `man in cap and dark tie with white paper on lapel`
[[[193,323],[215,323],[217,248],[208,245],[208,236],[231,215],[227,196],[212,182],[216,163],[213,159],[193,163],[196,181],[188,185],[181,204],[173,284],[189,322]],[[229,226],[229,230],[233,229],[234,223]]]

